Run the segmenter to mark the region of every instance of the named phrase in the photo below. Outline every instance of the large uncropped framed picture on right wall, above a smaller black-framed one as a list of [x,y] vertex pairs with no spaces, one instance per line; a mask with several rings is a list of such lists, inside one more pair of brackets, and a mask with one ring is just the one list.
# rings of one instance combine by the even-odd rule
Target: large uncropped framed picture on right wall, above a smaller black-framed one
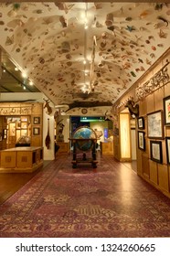
[[163,112],[151,112],[147,114],[148,138],[164,139]]

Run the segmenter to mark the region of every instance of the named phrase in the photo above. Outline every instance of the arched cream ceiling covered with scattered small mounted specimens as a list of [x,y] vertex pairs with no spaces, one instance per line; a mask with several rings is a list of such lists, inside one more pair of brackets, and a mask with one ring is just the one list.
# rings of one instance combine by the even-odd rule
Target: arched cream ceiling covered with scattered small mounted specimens
[[169,48],[170,4],[0,4],[0,45],[55,104],[112,105]]

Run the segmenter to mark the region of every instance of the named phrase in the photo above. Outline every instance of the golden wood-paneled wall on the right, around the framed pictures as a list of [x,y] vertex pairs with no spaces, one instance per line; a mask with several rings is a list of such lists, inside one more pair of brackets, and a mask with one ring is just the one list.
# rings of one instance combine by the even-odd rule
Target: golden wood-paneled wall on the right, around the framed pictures
[[[117,104],[125,101],[132,96],[135,99],[135,88],[139,84],[143,84],[150,78],[152,78],[159,69],[161,69],[166,60],[170,61],[170,49],[165,53],[162,59],[157,61],[156,65],[154,65],[153,69],[150,69],[145,76],[143,76],[142,80],[138,81],[133,88],[128,91],[128,93],[122,96],[120,101],[116,102]],[[170,76],[170,64],[167,66],[168,74]],[[162,88],[154,91],[147,97],[143,99],[143,101],[138,101],[139,103],[139,116],[144,118],[145,128],[143,132],[145,133],[145,150],[140,150],[137,145],[137,174],[142,176],[147,182],[152,184],[157,189],[161,190],[167,197],[170,197],[170,165],[167,164],[166,159],[166,147],[165,147],[165,137],[170,136],[170,126],[166,126],[163,120],[163,129],[165,136],[163,139],[152,139],[152,141],[161,141],[162,142],[162,153],[163,153],[163,164],[159,164],[151,160],[151,152],[150,152],[150,140],[147,134],[147,114],[150,112],[163,111],[164,113],[164,98],[170,96],[170,83],[167,83]],[[119,110],[122,111],[123,107]],[[164,119],[164,116],[163,116]],[[138,135],[138,127],[136,120],[136,136]],[[142,130],[140,130],[142,131]],[[136,141],[138,138],[136,137]]]

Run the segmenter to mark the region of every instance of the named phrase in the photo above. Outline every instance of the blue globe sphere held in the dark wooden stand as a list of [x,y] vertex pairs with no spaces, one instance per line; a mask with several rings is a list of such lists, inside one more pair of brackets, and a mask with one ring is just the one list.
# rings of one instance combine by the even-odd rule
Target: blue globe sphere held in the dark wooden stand
[[[80,126],[75,133],[73,134],[74,139],[96,139],[96,133],[87,126]],[[77,141],[76,146],[81,150],[81,151],[88,151],[90,150],[92,146],[92,141],[91,140],[85,140],[85,141]]]

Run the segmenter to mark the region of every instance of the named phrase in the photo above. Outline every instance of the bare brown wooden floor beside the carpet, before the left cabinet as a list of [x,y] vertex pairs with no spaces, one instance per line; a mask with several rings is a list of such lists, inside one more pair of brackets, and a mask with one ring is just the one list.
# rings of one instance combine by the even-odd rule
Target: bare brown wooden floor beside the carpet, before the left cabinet
[[0,174],[0,204],[5,202],[8,197],[16,193],[19,188],[23,187],[27,182],[42,171],[50,161],[44,161],[44,165],[33,173],[27,174]]

